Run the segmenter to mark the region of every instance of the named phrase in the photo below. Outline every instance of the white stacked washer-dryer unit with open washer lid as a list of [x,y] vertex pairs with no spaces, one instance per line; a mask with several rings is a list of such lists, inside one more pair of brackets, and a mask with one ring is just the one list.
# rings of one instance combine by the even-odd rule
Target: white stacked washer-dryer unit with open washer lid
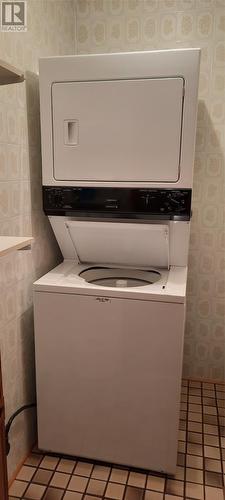
[[174,473],[200,51],[41,59],[39,447]]

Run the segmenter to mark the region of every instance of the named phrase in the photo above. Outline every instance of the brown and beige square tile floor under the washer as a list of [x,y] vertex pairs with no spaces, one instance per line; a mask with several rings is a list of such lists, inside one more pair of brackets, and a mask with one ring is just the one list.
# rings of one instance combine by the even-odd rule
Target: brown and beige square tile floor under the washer
[[184,380],[175,477],[33,450],[10,500],[223,500],[225,385]]

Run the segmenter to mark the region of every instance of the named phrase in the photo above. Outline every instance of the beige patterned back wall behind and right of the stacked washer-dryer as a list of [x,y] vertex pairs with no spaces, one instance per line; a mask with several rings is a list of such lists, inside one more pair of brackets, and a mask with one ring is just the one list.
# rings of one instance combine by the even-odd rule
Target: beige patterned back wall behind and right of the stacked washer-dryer
[[78,53],[201,47],[184,375],[225,376],[225,0],[77,0]]

